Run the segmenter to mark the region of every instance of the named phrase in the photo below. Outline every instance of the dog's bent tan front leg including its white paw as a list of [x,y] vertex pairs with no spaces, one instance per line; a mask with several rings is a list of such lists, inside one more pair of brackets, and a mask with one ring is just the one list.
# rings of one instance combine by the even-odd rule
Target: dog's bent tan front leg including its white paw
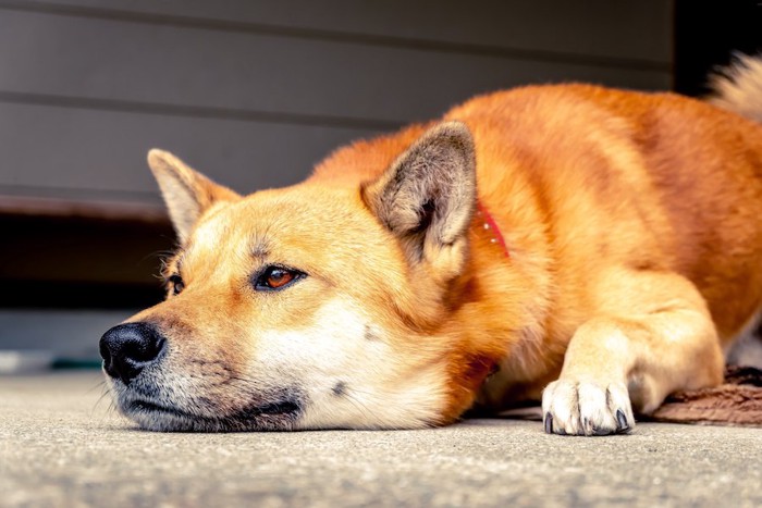
[[543,393],[545,432],[629,432],[632,408],[649,413],[675,391],[722,381],[717,333],[689,281],[617,270],[594,290],[594,317],[577,329],[561,376]]

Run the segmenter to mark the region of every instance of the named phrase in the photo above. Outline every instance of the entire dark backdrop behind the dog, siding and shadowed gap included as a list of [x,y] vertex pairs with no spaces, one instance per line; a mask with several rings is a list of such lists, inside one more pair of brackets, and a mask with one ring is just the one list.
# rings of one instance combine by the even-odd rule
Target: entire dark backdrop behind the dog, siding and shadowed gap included
[[529,83],[702,95],[758,1],[0,0],[0,350],[90,358],[161,298],[149,148],[248,193]]

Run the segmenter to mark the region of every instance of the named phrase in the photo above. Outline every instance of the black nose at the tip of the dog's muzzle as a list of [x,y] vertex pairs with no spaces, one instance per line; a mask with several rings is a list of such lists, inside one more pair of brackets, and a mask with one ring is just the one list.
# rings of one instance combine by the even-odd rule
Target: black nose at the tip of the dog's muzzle
[[103,369],[111,377],[124,384],[135,379],[143,369],[159,360],[167,339],[149,323],[120,324],[100,337]]

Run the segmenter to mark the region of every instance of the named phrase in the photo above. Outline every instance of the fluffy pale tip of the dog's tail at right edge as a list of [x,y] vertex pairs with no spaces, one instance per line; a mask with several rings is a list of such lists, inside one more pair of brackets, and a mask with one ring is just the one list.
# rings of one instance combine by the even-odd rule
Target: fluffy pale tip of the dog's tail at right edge
[[762,54],[736,54],[709,83],[711,103],[762,123]]

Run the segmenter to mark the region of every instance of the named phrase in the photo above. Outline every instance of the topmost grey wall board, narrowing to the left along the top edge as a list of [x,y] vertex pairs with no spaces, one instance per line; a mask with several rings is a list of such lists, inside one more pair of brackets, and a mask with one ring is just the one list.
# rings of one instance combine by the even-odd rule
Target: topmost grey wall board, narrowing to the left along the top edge
[[668,0],[22,0],[12,3],[32,8],[40,4],[90,8],[90,12],[111,15],[149,13],[248,23],[255,29],[284,27],[661,63],[672,60]]

